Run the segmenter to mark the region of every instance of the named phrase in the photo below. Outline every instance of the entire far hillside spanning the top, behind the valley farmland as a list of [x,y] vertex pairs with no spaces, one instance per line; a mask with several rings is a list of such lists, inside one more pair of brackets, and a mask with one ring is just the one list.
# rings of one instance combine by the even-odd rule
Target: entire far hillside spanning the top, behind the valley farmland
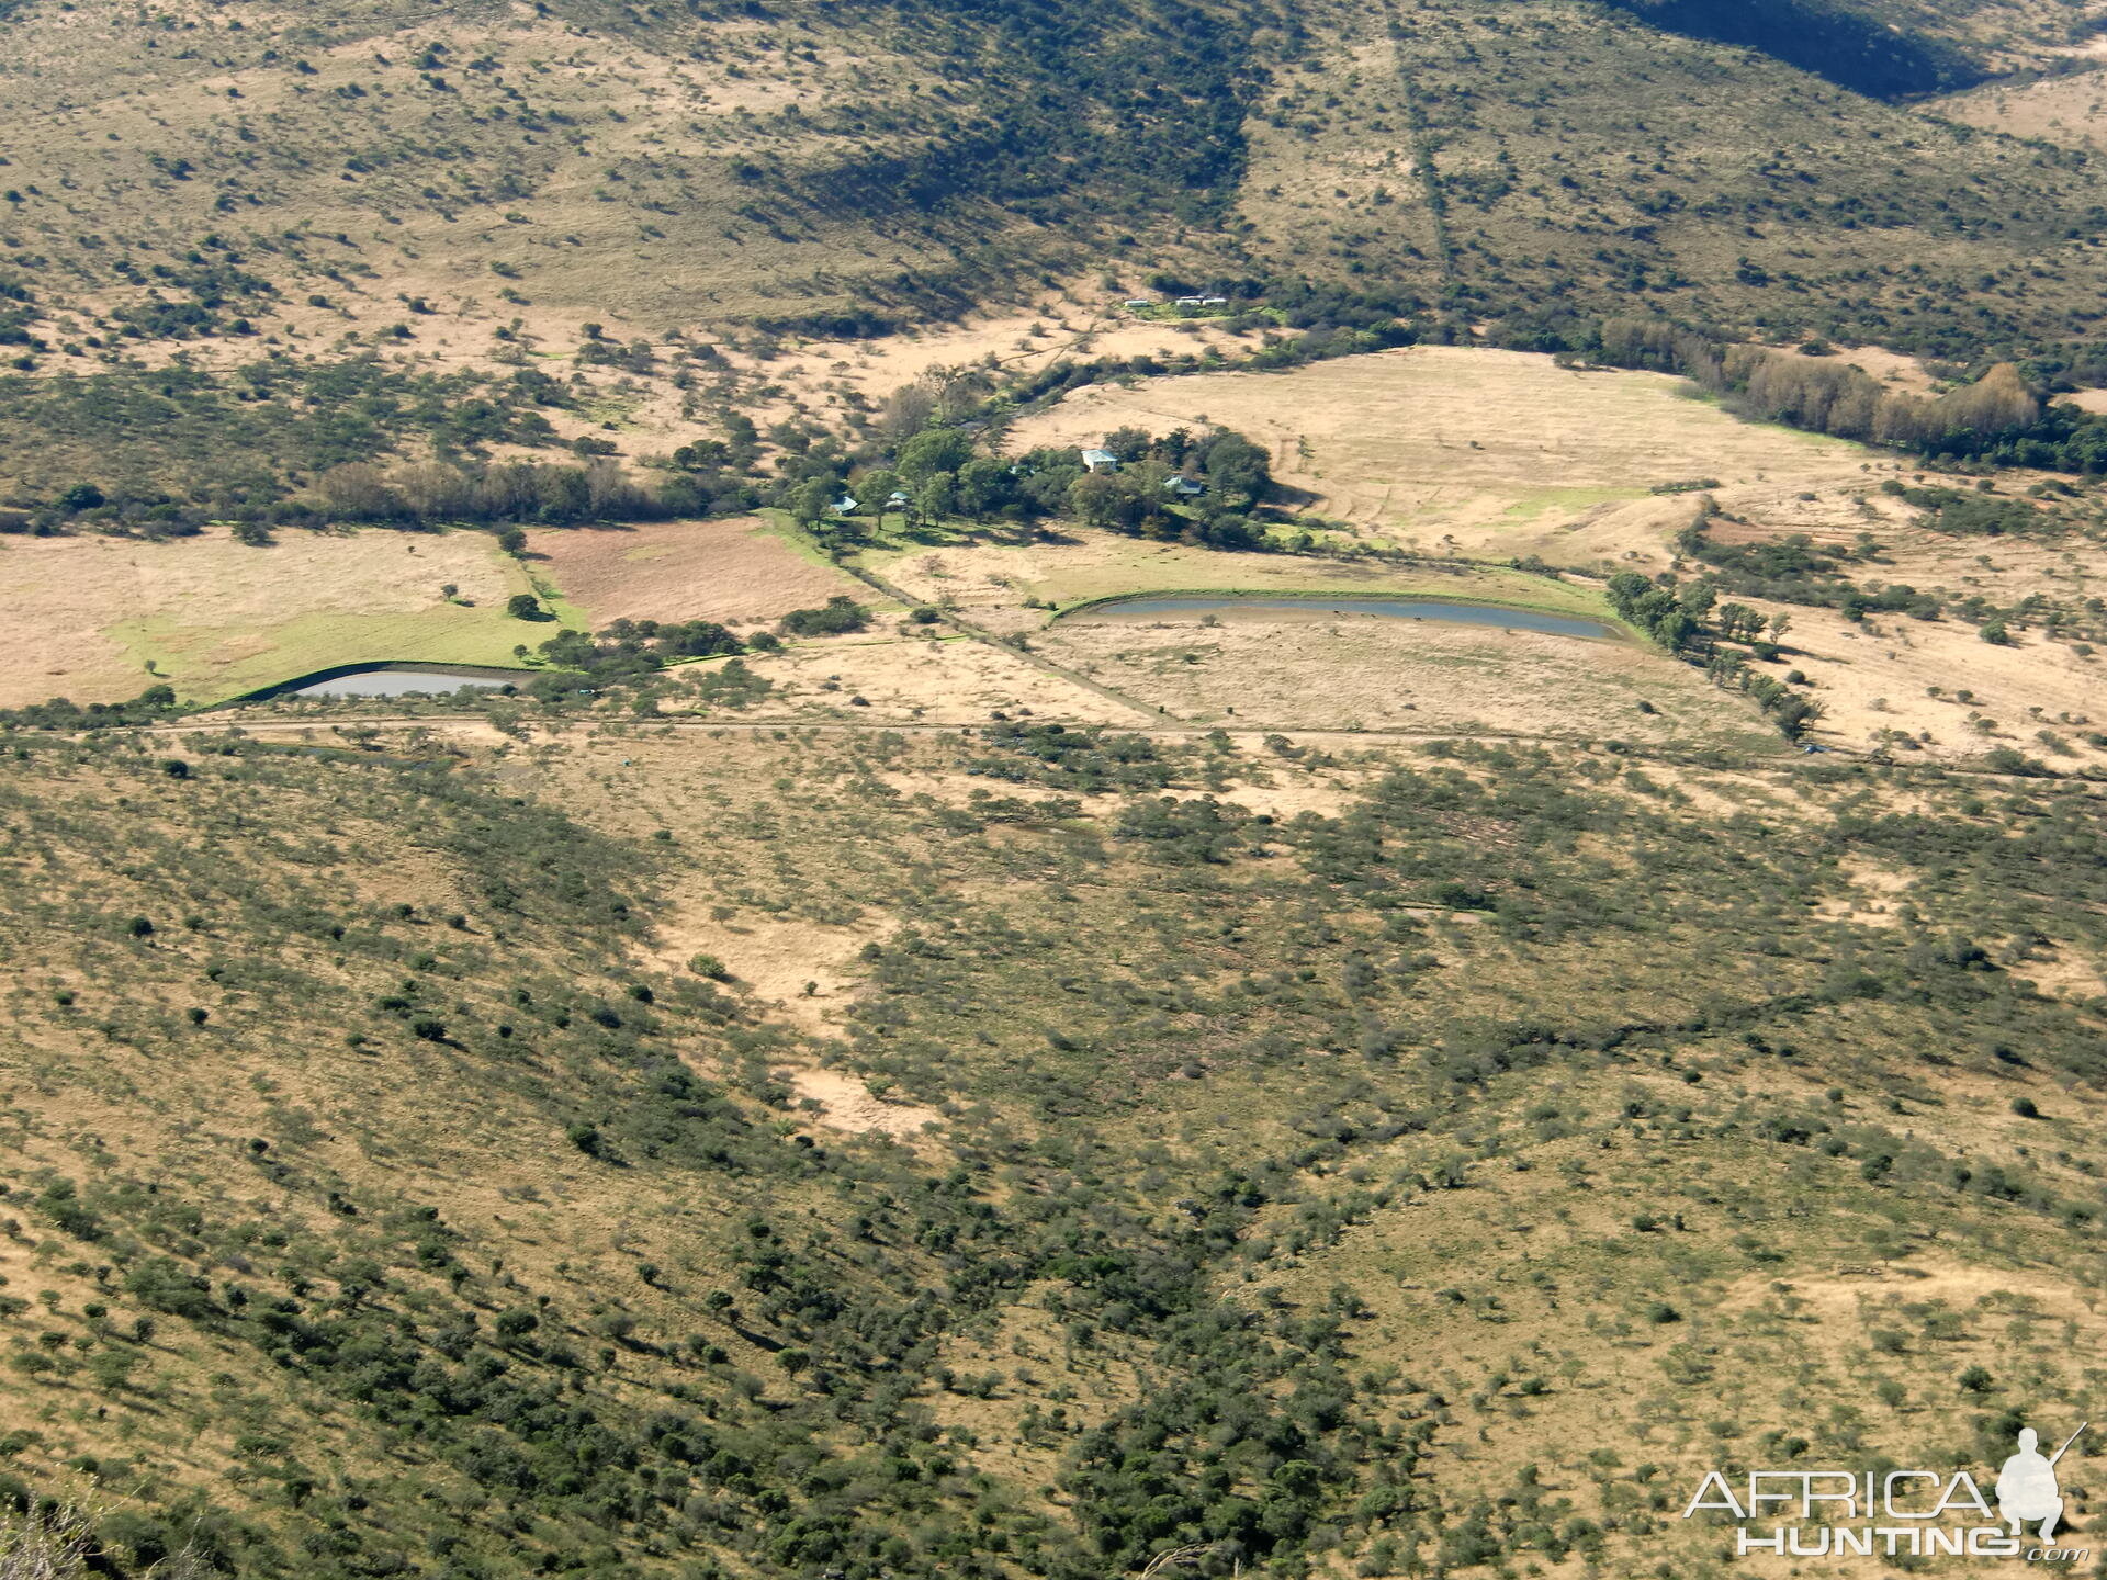
[[[152,506],[160,478],[228,514],[375,455],[672,451],[824,404],[845,358],[786,375],[801,337],[1104,327],[1195,284],[1517,345],[1641,308],[1960,362],[2067,343],[2107,284],[2090,154],[1909,95],[2075,59],[2056,40],[2090,23],[25,0],[0,17],[0,503]],[[1839,27],[1907,59],[1842,70]]]

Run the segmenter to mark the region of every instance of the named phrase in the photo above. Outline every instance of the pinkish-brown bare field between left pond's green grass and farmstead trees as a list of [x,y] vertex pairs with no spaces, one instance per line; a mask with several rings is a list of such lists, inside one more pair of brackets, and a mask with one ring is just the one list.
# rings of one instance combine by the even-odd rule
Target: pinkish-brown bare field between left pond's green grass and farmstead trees
[[546,529],[527,535],[548,575],[594,626],[615,619],[775,621],[836,592],[868,590],[773,535],[759,518]]

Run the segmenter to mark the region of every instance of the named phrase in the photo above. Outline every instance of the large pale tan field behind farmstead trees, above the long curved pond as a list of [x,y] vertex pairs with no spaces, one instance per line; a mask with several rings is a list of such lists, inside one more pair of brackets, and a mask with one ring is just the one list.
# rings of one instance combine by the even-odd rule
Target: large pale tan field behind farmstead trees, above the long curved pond
[[1205,373],[1075,390],[1011,430],[1011,449],[1089,445],[1112,428],[1233,428],[1311,510],[1403,548],[1555,565],[1660,562],[1688,501],[1766,508],[1867,487],[1873,451],[1738,421],[1658,373],[1574,371],[1549,356],[1414,345],[1283,373]]

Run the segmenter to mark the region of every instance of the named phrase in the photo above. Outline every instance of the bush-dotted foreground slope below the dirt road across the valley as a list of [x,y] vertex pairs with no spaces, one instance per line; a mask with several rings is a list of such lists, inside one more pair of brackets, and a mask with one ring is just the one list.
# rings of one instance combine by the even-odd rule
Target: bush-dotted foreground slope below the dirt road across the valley
[[2092,786],[297,742],[4,790],[0,1502],[105,1572],[1709,1576],[1721,1458],[2103,1403]]

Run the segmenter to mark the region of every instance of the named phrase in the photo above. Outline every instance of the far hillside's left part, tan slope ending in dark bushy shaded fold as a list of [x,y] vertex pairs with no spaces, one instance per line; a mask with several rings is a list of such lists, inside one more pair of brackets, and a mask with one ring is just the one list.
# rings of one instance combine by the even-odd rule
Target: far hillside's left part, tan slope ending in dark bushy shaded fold
[[1203,204],[1235,169],[1266,38],[1235,4],[1146,0],[442,17],[36,0],[0,25],[21,278],[95,314],[179,303],[147,329],[276,312],[324,339],[337,320],[310,295],[655,333],[957,303],[959,280],[1001,284],[997,259]]

